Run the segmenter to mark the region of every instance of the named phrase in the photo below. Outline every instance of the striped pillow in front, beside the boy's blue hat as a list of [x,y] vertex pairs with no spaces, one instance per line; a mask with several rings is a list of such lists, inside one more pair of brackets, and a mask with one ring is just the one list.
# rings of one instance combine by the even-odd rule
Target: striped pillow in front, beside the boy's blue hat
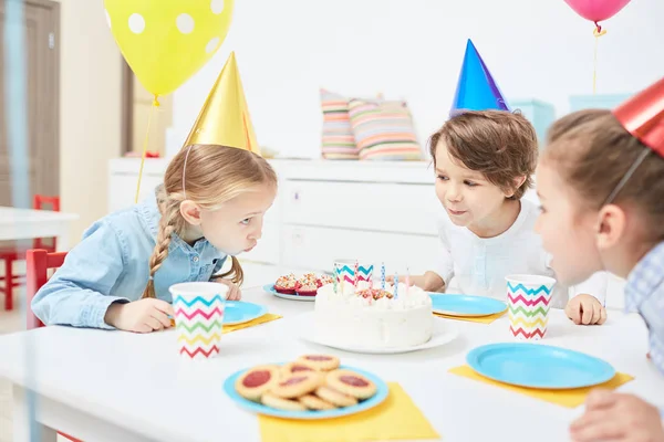
[[349,102],[349,114],[360,159],[422,159],[411,112],[405,102],[353,98]]

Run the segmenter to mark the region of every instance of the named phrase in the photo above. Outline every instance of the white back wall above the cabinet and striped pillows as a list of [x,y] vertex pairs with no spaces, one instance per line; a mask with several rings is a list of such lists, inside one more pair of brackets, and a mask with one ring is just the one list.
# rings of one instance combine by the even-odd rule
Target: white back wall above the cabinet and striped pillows
[[[662,0],[634,0],[604,23],[599,93],[664,75]],[[421,139],[447,116],[471,38],[508,101],[537,97],[561,115],[592,93],[593,25],[563,0],[238,0],[219,53],[174,96],[175,144],[236,50],[261,145],[318,157],[319,87],[406,98]]]

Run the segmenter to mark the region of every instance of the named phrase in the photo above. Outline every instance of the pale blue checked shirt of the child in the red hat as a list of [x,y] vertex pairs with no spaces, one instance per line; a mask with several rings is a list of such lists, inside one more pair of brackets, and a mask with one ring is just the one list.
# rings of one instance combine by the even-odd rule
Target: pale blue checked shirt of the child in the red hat
[[625,309],[643,317],[651,359],[664,375],[664,242],[651,250],[627,276]]

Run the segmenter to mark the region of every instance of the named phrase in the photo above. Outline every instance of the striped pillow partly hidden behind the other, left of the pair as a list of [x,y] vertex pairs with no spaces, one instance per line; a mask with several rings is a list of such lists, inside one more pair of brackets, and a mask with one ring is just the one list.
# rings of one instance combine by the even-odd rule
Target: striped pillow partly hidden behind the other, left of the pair
[[323,158],[359,159],[360,150],[355,146],[349,116],[349,99],[333,92],[321,90],[321,108],[323,110]]

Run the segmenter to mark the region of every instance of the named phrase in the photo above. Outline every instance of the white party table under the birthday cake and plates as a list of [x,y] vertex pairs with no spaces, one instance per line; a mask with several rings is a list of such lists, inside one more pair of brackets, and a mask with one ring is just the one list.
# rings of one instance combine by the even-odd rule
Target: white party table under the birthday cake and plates
[[[463,365],[466,352],[477,345],[510,341],[506,317],[491,325],[449,322],[460,337],[437,349],[367,356],[299,339],[293,327],[297,314],[311,311],[312,303],[279,299],[260,290],[246,291],[245,299],[267,304],[284,318],[224,335],[221,356],[203,362],[179,359],[172,330],[134,335],[46,327],[1,336],[0,376],[9,378],[14,389],[14,440],[28,441],[24,387],[31,385],[39,398],[43,441],[54,440],[49,428],[85,441],[259,441],[257,417],[226,397],[224,380],[240,368],[311,351],[336,354],[344,364],[401,382],[446,441],[513,439],[509,422],[516,413],[522,417],[525,434],[537,432],[542,442],[564,441],[570,421],[582,411],[447,372]],[[635,376],[621,391],[652,402],[664,398],[664,378],[645,358],[646,332],[637,316],[610,312],[604,326],[578,327],[554,311],[543,343],[600,356]],[[37,381],[30,383],[27,345],[35,364]]]

